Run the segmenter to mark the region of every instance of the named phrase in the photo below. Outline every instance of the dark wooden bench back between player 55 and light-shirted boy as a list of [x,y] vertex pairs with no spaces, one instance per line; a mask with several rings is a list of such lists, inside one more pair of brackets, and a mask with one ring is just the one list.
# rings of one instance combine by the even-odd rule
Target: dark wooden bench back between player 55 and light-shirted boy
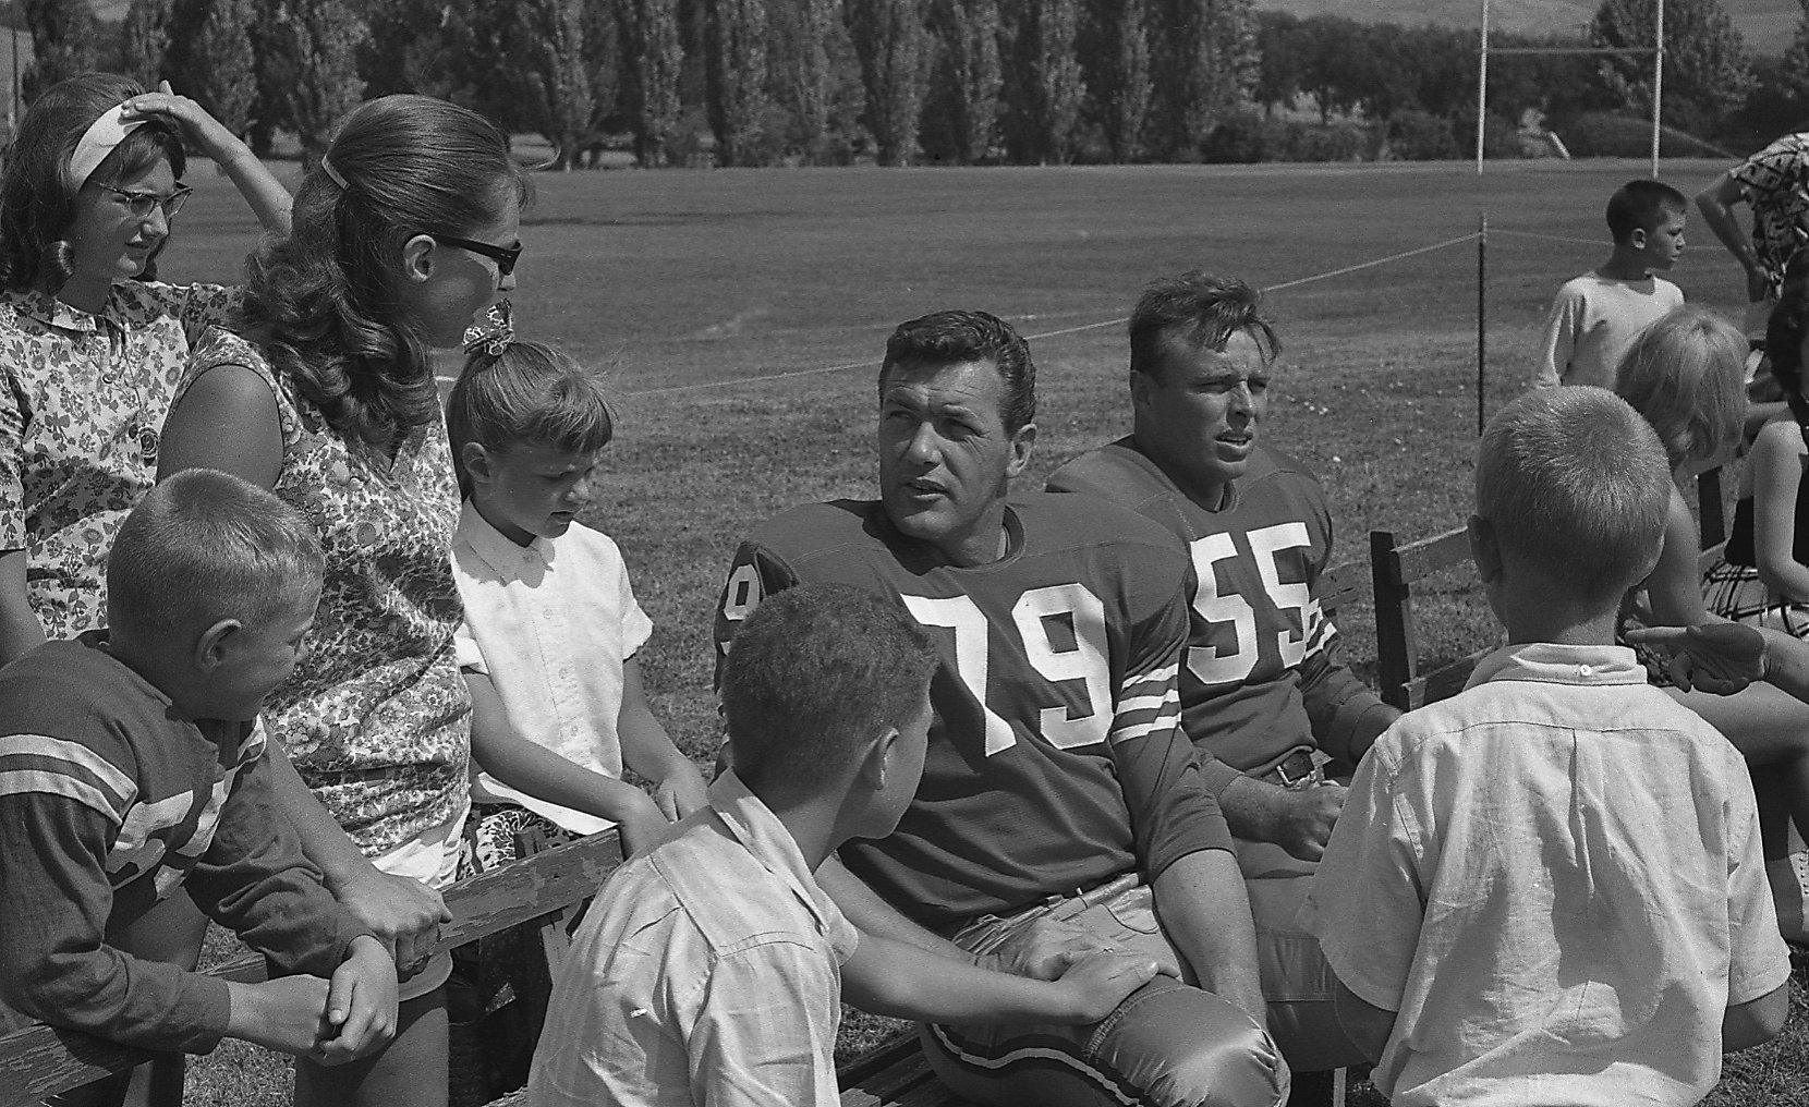
[[[1702,552],[1699,568],[1708,570],[1728,541],[1726,503],[1722,499],[1722,461],[1697,472]],[[1433,537],[1400,544],[1391,530],[1369,532],[1369,572],[1375,586],[1375,667],[1382,698],[1402,711],[1436,704],[1463,691],[1471,671],[1496,646],[1474,649],[1433,669],[1422,669],[1420,635],[1413,619],[1413,597],[1429,577],[1467,566],[1469,535],[1458,526]]]

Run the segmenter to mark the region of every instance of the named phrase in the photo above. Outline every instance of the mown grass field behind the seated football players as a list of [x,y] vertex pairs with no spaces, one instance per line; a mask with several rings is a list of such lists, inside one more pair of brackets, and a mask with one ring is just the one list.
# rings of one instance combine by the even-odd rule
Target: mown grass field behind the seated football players
[[[1693,192],[1713,163],[1666,163]],[[1606,253],[1601,208],[1639,163],[1469,166],[1141,166],[1046,170],[718,170],[537,179],[517,270],[523,335],[559,342],[624,394],[610,481],[590,521],[622,544],[655,620],[644,673],[673,736],[715,747],[709,626],[734,543],[785,506],[872,488],[874,369],[886,333],[937,308],[982,308],[1033,336],[1035,487],[1127,427],[1123,317],[1138,286],[1183,268],[1297,282],[1462,239],[1487,213],[1489,394],[1523,387],[1558,282]],[[232,280],[253,221],[223,179],[166,253],[170,279]],[[1673,279],[1738,309],[1738,270],[1699,224]],[[1364,532],[1462,521],[1476,430],[1476,242],[1279,289],[1286,344],[1263,429],[1324,479],[1340,561]],[[1064,335],[1071,327],[1087,327]],[[1038,336],[1047,335],[1047,336]],[[839,369],[830,369],[839,367]],[[447,365],[447,371],[456,365]],[[818,369],[830,369],[816,373]],[[780,376],[791,374],[791,376]],[[1489,624],[1467,582],[1422,608],[1433,653]],[[1366,608],[1340,615],[1371,671]],[[868,1027],[870,1033],[870,1027]],[[1713,1103],[1802,1103],[1802,993],[1780,1044],[1738,1055]],[[282,1102],[255,1051],[195,1065],[194,1103]]]

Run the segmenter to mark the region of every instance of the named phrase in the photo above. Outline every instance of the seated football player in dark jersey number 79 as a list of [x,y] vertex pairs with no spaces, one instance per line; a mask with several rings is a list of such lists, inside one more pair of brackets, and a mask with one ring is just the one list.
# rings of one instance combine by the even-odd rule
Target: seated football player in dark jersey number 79
[[1035,977],[1093,950],[1167,966],[1103,1022],[926,1026],[986,1103],[1277,1105],[1230,832],[1178,729],[1187,552],[1073,496],[1011,496],[1035,441],[1029,347],[1004,322],[903,324],[879,369],[879,499],[792,508],[742,543],[718,660],[765,595],[852,584],[924,626],[941,667],[897,830],[818,874],[867,933]]

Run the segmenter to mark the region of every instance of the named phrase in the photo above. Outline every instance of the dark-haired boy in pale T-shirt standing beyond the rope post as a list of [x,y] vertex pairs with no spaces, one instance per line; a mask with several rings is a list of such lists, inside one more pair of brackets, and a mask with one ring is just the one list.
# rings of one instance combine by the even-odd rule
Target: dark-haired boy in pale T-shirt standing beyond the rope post
[[1684,194],[1659,181],[1628,181],[1608,197],[1614,253],[1558,289],[1539,335],[1532,387],[1614,387],[1614,371],[1634,338],[1684,302],[1682,289],[1657,273],[1670,273],[1682,255],[1688,212]]

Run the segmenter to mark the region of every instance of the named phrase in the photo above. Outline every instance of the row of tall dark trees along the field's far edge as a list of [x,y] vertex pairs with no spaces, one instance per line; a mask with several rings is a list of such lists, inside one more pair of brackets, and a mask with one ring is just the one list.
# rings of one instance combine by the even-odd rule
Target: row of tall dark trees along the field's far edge
[[[1664,0],[1666,119],[1697,134],[1809,114],[1795,63],[1755,69],[1720,0]],[[83,69],[170,80],[268,147],[318,152],[362,98],[418,90],[539,132],[559,165],[631,136],[644,165],[1194,161],[1252,112],[1474,127],[1476,33],[1255,13],[1254,0],[14,0],[29,98]],[[1644,47],[1653,0],[1603,0],[1590,45]],[[1496,45],[1577,40],[1498,36]],[[1491,114],[1650,110],[1646,56],[1512,56]],[[1758,107],[1755,107],[1758,105]],[[1762,109],[1762,110],[1760,110]],[[1789,123],[1795,123],[1791,119]],[[1787,123],[1780,123],[1787,125]],[[707,139],[704,137],[707,136]]]

